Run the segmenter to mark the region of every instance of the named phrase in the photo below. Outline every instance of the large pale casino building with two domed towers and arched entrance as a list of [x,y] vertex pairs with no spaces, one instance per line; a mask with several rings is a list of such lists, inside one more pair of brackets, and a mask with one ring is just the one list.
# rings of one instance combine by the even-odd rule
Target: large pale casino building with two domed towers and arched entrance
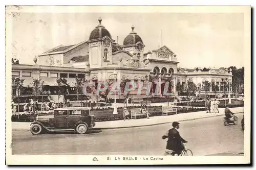
[[[135,27],[132,27],[131,32],[124,38],[123,44],[118,44],[101,24],[102,19],[99,18],[98,21],[99,25],[91,32],[88,40],[68,46],[56,46],[36,56],[33,65],[12,64],[12,76],[25,79],[24,86],[29,86],[33,78],[41,78],[45,81],[45,90],[49,91],[52,98],[56,98],[57,78],[67,78],[69,85],[74,87],[76,77],[110,80],[115,77],[114,70],[117,80],[128,79],[135,83],[144,81],[146,75],[157,77],[157,80],[162,82],[159,96],[162,96],[164,81],[167,78],[171,78],[174,84],[178,81],[182,84],[187,81],[195,82],[198,88],[202,89],[198,94],[205,93],[205,80],[215,82],[219,86],[217,94],[220,94],[223,93],[221,79],[230,79],[232,76],[225,68],[213,68],[209,71],[178,68],[177,55],[165,45],[144,52],[145,44],[135,32]],[[70,93],[74,95],[73,92]],[[214,92],[210,89],[209,93]],[[135,94],[136,90],[131,93]],[[172,94],[177,95],[175,85],[172,87]],[[30,87],[20,95],[31,95]]]

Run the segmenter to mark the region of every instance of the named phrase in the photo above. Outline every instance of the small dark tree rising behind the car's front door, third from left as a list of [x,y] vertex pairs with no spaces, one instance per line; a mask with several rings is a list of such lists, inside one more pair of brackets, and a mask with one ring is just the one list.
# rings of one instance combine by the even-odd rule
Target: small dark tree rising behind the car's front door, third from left
[[[60,95],[63,95],[64,103],[66,103],[66,95],[69,93],[70,85],[68,84],[68,80],[66,78],[57,78],[57,89],[58,89],[58,99]],[[58,101],[59,102],[59,101]]]

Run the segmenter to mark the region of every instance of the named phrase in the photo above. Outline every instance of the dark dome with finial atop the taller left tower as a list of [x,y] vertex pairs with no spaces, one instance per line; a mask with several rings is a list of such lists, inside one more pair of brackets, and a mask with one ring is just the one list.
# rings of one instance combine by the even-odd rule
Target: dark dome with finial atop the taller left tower
[[101,21],[102,19],[99,18],[99,25],[91,32],[89,40],[103,38],[104,36],[112,39],[110,32],[101,25]]

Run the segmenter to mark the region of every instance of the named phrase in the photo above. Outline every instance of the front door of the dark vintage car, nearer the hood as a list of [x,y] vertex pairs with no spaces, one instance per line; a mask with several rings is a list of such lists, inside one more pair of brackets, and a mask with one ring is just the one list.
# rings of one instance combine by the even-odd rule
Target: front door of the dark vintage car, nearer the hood
[[68,127],[68,110],[55,111],[55,128],[67,128]]

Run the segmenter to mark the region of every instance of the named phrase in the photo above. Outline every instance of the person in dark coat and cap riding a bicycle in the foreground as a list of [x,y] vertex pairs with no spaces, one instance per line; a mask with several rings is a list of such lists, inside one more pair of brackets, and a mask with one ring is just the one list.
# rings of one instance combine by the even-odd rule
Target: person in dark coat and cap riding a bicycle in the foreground
[[183,143],[186,143],[187,141],[183,139],[180,136],[180,133],[178,129],[180,128],[178,122],[173,122],[173,128],[169,129],[163,136],[162,139],[168,138],[167,144],[166,144],[166,149],[173,151],[172,155],[174,156],[175,154],[180,155],[182,150],[184,149]]

